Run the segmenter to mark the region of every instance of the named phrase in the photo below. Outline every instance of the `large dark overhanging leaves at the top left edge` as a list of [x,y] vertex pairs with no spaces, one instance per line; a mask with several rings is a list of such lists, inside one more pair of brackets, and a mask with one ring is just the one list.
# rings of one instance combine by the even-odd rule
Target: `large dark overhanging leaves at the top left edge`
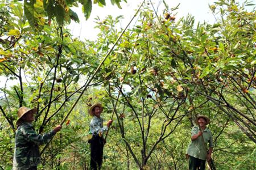
[[[48,17],[48,24],[51,23],[53,18],[56,18],[58,24],[62,25],[64,22],[70,22],[74,20],[79,22],[79,18],[76,12],[72,11],[70,7],[78,6],[78,3],[82,5],[82,11],[84,12],[85,18],[88,19],[92,12],[92,0],[77,0],[77,1],[64,1],[64,0],[26,0],[24,1],[24,12],[32,28],[36,31],[42,30],[42,27],[46,25],[46,19]],[[113,4],[117,4],[121,8],[121,1],[113,1]],[[125,1],[126,2],[126,1]],[[105,6],[105,0],[94,1],[99,6]],[[16,15],[22,15],[20,11],[14,11]],[[18,16],[19,16],[18,15]]]

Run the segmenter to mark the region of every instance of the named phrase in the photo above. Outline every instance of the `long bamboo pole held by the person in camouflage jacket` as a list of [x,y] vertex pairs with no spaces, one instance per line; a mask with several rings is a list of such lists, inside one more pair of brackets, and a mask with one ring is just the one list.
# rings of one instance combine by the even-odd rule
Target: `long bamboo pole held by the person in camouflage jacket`
[[[141,6],[139,6],[138,10],[135,12],[133,18],[131,18],[130,22],[127,24],[127,26],[125,27],[125,29],[123,29],[121,35],[119,35],[118,39],[115,41],[114,45],[112,46],[112,48],[109,50],[108,54],[106,54],[106,56],[104,57],[104,59],[101,61],[100,65],[98,65],[97,69],[94,71],[92,77],[89,79],[88,82],[85,83],[84,85],[84,90],[82,90],[81,94],[79,95],[79,97],[77,98],[77,100],[75,101],[75,103],[72,105],[71,109],[69,110],[69,112],[67,113],[67,115],[63,118],[63,120],[61,121],[60,125],[63,125],[64,122],[67,120],[69,114],[71,114],[71,112],[73,111],[73,109],[75,108],[76,104],[79,102],[81,96],[84,94],[86,88],[89,86],[90,82],[92,82],[94,76],[98,73],[98,70],[100,70],[100,67],[103,65],[104,61],[106,60],[106,58],[109,57],[110,53],[112,53],[115,45],[117,45],[117,42],[121,39],[123,33],[125,33],[126,29],[129,27],[129,25],[131,24],[131,22],[133,21],[133,19],[135,18],[135,16],[137,16],[139,10],[141,10],[141,7],[143,5],[143,3],[145,2],[145,0],[143,0],[143,2],[141,3]],[[51,139],[52,140],[52,139]],[[43,150],[40,152],[40,156],[43,154],[43,152],[46,150],[47,146],[49,145],[51,141],[49,141],[46,146],[44,146]]]

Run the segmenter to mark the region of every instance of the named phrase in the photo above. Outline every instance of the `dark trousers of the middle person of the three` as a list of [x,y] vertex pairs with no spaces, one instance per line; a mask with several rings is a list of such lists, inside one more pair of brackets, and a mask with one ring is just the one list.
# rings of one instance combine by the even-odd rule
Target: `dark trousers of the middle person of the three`
[[103,138],[99,135],[93,135],[90,139],[90,169],[101,169],[103,146]]

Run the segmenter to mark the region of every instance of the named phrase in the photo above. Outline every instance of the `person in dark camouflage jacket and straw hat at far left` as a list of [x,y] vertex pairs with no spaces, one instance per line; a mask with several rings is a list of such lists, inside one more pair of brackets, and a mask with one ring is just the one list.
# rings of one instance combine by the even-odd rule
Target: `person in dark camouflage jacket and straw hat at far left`
[[36,134],[31,122],[34,121],[36,109],[21,107],[18,110],[19,119],[16,122],[18,126],[15,132],[15,148],[13,158],[13,170],[34,170],[40,163],[39,145],[43,145],[61,129],[56,126],[49,133],[44,135]]

